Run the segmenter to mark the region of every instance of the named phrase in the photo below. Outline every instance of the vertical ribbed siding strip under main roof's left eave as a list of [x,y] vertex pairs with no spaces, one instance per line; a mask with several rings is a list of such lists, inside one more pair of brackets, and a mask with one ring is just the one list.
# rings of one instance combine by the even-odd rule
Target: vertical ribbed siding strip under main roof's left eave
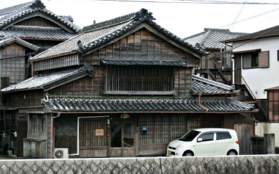
[[59,58],[50,58],[44,61],[33,63],[33,71],[50,70],[54,68],[63,68],[73,65],[80,65],[78,54],[70,54]]

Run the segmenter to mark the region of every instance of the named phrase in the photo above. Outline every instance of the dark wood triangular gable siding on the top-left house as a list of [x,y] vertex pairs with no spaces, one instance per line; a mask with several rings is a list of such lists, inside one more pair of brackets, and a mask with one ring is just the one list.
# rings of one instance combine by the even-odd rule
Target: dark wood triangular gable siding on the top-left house
[[61,28],[60,26],[54,24],[50,20],[47,20],[43,17],[31,17],[29,19],[25,19],[21,22],[17,22],[14,24],[15,26],[44,26],[44,27],[54,27],[54,28]]

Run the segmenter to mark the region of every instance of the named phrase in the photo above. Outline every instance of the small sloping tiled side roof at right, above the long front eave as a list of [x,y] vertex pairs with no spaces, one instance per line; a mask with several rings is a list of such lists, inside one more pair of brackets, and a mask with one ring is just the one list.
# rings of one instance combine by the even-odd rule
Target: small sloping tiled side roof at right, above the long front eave
[[192,92],[206,94],[237,93],[234,86],[220,84],[216,81],[192,75]]

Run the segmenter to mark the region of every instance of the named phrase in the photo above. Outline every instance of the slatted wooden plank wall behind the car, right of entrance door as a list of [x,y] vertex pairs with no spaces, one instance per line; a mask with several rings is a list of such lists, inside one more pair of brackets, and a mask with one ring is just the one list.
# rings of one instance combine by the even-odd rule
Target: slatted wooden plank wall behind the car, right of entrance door
[[146,114],[140,116],[139,126],[147,126],[147,134],[139,133],[138,155],[165,155],[170,141],[181,138],[191,129],[222,128],[224,127],[224,118],[222,114]]

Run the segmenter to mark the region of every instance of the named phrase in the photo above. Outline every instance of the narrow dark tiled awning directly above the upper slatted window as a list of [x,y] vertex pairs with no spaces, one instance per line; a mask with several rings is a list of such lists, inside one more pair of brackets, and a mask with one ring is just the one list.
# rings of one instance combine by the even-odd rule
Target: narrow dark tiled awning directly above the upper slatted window
[[185,66],[182,61],[151,61],[151,60],[121,60],[101,59],[104,65],[163,65],[163,66]]

